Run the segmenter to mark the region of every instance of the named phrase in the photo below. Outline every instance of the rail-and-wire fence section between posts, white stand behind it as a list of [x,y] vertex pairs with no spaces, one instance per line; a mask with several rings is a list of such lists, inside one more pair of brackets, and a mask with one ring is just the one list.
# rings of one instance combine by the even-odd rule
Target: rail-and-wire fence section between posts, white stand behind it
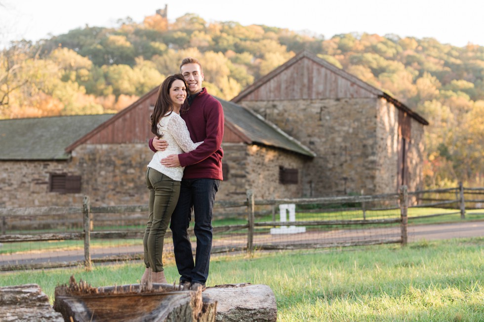
[[402,243],[402,197],[384,194],[254,200],[255,206],[276,206],[280,219],[254,216],[253,247],[268,250]]

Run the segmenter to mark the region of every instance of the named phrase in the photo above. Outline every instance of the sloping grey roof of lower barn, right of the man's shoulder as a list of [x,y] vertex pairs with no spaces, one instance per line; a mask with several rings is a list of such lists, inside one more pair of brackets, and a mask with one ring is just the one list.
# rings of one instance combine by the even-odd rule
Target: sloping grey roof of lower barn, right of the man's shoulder
[[[268,122],[259,114],[234,102],[217,98],[222,103],[226,127],[232,127],[245,137],[246,143],[263,144],[297,152],[309,157],[316,154],[286,134],[276,125]],[[241,135],[241,136],[242,136]]]

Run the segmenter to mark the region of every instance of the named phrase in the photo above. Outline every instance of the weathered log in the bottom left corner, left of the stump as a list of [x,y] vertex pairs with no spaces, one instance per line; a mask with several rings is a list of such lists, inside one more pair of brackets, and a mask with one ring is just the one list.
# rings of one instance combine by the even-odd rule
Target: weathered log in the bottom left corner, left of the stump
[[0,303],[0,321],[64,321],[37,284],[0,287]]

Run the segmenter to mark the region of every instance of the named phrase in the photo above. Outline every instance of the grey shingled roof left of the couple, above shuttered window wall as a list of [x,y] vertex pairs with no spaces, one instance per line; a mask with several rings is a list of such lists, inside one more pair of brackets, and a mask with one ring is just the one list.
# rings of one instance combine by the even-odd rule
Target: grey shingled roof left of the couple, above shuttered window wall
[[0,160],[67,160],[69,144],[113,115],[0,120]]

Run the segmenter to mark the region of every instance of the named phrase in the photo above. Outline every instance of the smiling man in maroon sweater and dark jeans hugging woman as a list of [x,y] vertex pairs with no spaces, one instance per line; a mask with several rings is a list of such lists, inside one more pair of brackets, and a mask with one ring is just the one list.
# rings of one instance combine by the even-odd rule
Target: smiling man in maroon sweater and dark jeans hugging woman
[[[202,88],[203,70],[195,58],[185,58],[180,72],[188,83],[188,111],[181,113],[194,142],[203,143],[194,151],[170,155],[161,160],[167,167],[185,166],[181,181],[180,197],[171,216],[170,229],[180,285],[200,284],[202,289],[208,278],[212,248],[212,210],[215,194],[222,180],[221,148],[224,132],[222,104]],[[184,109],[184,107],[182,107]],[[164,140],[150,140],[153,151],[163,150]],[[195,262],[188,235],[192,207],[195,216],[194,232],[197,237]]]

